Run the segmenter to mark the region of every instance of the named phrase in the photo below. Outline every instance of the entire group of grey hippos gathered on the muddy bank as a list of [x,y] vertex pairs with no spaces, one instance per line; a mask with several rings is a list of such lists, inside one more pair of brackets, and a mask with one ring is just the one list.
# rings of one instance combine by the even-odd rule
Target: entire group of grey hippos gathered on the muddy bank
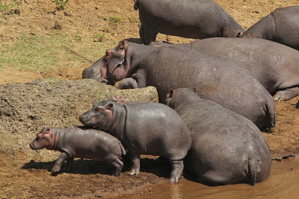
[[[121,41],[82,78],[153,86],[160,103],[94,103],[79,117],[84,126],[45,126],[30,148],[61,152],[54,173],[80,157],[119,176],[126,155],[129,175],[139,175],[141,155],[154,155],[169,161],[169,183],[184,168],[212,186],[266,180],[272,160],[261,130],[275,126],[275,100],[299,95],[299,6],[278,8],[247,31],[212,0],[136,0],[134,8],[143,44]],[[201,40],[161,43],[157,33]]]

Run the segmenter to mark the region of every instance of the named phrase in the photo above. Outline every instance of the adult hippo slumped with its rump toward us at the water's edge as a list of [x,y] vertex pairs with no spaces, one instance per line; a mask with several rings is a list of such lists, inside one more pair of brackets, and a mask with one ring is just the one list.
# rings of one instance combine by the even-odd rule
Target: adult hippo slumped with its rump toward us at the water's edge
[[184,166],[210,185],[255,183],[271,171],[271,154],[261,131],[247,118],[200,99],[188,89],[167,95],[166,104],[182,118],[191,134]]

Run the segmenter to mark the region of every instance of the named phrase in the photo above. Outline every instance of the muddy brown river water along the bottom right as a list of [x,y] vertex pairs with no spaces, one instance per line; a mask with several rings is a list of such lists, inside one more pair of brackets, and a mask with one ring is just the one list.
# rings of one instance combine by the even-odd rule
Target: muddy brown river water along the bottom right
[[149,187],[144,195],[123,199],[299,199],[299,160],[272,162],[270,177],[255,186],[247,184],[208,187],[186,179],[177,185]]

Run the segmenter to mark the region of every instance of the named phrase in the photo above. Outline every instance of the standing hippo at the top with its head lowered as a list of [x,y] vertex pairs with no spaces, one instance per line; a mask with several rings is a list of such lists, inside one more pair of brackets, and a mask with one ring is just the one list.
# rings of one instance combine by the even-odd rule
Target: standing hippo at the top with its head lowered
[[158,33],[185,38],[238,37],[245,30],[212,0],[136,0],[141,41],[149,44]]

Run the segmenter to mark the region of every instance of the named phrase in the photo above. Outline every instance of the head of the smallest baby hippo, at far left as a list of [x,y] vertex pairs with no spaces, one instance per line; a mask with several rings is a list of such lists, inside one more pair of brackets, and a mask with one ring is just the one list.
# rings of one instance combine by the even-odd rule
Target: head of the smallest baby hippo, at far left
[[33,150],[46,148],[48,150],[53,150],[54,138],[53,132],[47,126],[36,134],[36,138],[30,143],[30,148]]

